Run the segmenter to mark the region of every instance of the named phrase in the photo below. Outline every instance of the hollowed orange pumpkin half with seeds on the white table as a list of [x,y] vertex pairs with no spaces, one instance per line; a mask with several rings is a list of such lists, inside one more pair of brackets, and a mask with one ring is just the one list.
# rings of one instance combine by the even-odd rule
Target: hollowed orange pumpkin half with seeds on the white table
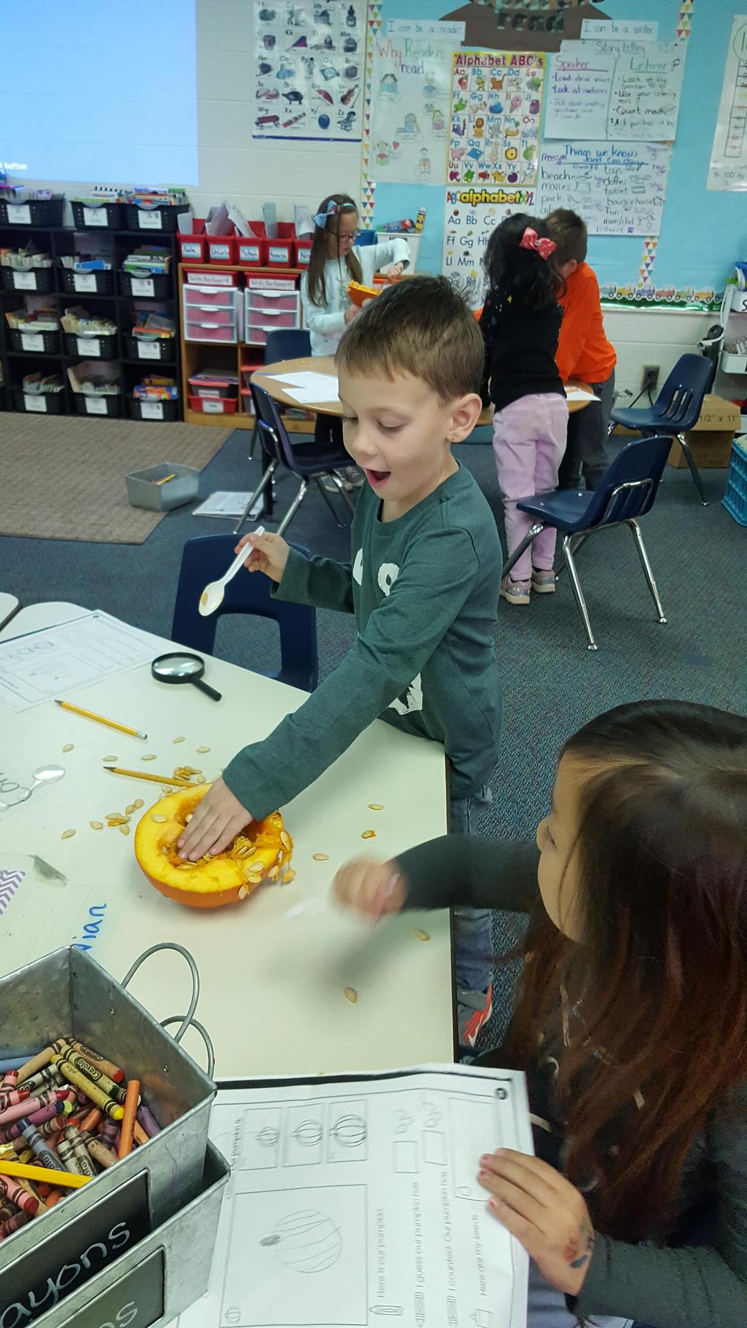
[[177,839],[205,797],[210,784],[199,789],[175,789],[160,798],[138,821],[134,853],[140,867],[156,890],[193,908],[219,908],[235,904],[265,879],[276,880],[292,853],[292,839],[283,829],[279,811],[265,821],[253,821],[234,842],[214,858],[182,862]]

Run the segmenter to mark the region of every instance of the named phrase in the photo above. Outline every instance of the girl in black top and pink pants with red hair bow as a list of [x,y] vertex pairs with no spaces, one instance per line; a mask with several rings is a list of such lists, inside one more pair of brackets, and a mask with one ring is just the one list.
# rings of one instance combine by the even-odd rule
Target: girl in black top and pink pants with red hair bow
[[[532,519],[517,510],[530,494],[557,489],[565,452],[568,406],[556,365],[564,283],[545,224],[524,212],[508,216],[485,251],[489,292],[480,327],[485,340],[482,398],[493,402],[493,450],[504,499],[509,555]],[[537,535],[510,575],[501,598],[528,604],[532,590],[556,588],[554,530]]]

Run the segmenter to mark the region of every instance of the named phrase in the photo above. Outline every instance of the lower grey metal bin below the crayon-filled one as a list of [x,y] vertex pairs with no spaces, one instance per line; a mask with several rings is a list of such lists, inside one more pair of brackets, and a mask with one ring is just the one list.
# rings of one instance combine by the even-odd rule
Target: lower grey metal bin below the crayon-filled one
[[[144,1145],[144,1147],[146,1146]],[[118,1167],[109,1169],[109,1171],[118,1170]],[[144,1263],[158,1251],[162,1251],[163,1259],[163,1313],[157,1319],[146,1317],[145,1320],[140,1315],[137,1319],[128,1316],[126,1321],[133,1321],[136,1325],[140,1321],[145,1321],[152,1324],[152,1328],[170,1323],[182,1309],[186,1309],[187,1305],[191,1305],[194,1300],[207,1291],[218,1218],[221,1215],[221,1202],[230,1170],[229,1163],[218,1149],[207,1143],[205,1169],[194,1198],[154,1231],[144,1236],[142,1240],[132,1246],[120,1259],[113,1260],[106,1268],[102,1268],[101,1272],[97,1272],[86,1283],[60,1300],[57,1305],[33,1319],[31,1321],[32,1328],[68,1328],[73,1320],[77,1321],[78,1315],[84,1325],[96,1323],[98,1328],[101,1319],[105,1323],[110,1321],[113,1317],[112,1311],[108,1308],[106,1312],[102,1309],[98,1313],[94,1304],[96,1297],[104,1296],[109,1291],[116,1293],[117,1288],[121,1287],[121,1300],[136,1299]],[[98,1186],[94,1183],[90,1198],[94,1197],[97,1190]],[[54,1212],[56,1208],[51,1211]],[[39,1220],[35,1219],[35,1222]],[[35,1222],[29,1222],[29,1227],[35,1226]],[[21,1230],[25,1231],[27,1228],[23,1227]],[[11,1236],[7,1242],[3,1242],[3,1246],[5,1243],[12,1244],[13,1242],[15,1236]],[[1,1276],[0,1272],[0,1280]],[[86,1311],[89,1312],[88,1315]]]

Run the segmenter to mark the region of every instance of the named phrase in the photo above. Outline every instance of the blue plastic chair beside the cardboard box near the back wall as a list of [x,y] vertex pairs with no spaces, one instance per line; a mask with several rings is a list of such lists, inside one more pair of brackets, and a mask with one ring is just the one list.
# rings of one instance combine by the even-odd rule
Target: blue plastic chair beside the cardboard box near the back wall
[[690,466],[690,474],[695,481],[703,507],[708,506],[703,481],[685,434],[698,422],[703,397],[712,382],[714,372],[714,363],[706,356],[681,355],[653,406],[630,406],[629,409],[615,406],[610,416],[609,429],[611,433],[615,424],[621,424],[625,429],[634,429],[643,436],[653,437],[666,433],[667,437],[677,438]]

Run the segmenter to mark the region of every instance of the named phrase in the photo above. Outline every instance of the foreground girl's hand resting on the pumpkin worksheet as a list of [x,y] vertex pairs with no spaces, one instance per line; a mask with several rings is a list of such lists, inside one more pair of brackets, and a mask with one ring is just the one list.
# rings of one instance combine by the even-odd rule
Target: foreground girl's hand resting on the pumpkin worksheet
[[493,1216],[521,1242],[546,1282],[577,1296],[594,1254],[594,1227],[581,1191],[553,1166],[513,1149],[485,1154],[479,1166]]

